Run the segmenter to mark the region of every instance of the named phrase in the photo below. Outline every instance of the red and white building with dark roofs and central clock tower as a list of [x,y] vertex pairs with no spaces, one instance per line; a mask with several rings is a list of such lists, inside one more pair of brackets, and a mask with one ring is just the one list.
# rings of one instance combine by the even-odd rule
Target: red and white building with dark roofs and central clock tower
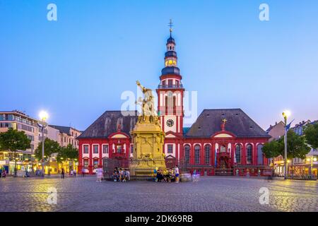
[[[242,109],[204,109],[191,127],[184,127],[184,87],[175,45],[170,30],[165,67],[156,89],[166,158],[182,162],[188,172],[195,169],[201,175],[268,174],[262,148],[271,136]],[[134,150],[130,133],[137,120],[136,111],[106,111],[88,126],[77,138],[78,172],[85,169],[93,174],[105,158],[129,160]]]

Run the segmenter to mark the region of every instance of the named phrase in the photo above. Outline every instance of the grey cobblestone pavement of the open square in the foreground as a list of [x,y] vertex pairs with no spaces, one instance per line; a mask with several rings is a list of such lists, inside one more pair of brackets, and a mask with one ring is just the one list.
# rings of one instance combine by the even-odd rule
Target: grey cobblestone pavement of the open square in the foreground
[[[47,203],[50,187],[57,204]],[[269,189],[269,204],[259,189]],[[201,177],[192,183],[0,178],[0,211],[318,211],[318,182]]]

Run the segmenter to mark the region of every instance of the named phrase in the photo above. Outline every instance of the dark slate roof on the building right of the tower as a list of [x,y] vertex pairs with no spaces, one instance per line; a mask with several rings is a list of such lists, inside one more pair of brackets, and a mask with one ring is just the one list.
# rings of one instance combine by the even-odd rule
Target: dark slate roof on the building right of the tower
[[271,137],[242,109],[204,109],[185,137],[211,137],[221,130],[222,119],[227,120],[225,130],[237,137]]

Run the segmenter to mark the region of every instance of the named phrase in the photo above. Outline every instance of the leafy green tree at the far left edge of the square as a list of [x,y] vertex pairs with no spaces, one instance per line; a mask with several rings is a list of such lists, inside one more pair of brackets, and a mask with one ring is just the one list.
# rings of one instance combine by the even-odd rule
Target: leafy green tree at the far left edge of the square
[[14,177],[16,177],[16,151],[30,148],[30,139],[24,131],[9,128],[8,131],[0,133],[0,147],[14,153]]

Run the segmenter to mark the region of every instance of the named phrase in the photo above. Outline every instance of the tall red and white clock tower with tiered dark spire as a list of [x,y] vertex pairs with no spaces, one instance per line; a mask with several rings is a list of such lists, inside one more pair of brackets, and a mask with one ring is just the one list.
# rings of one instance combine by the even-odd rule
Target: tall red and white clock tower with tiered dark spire
[[165,52],[165,67],[161,70],[158,85],[158,114],[160,124],[165,133],[172,131],[182,133],[183,128],[183,97],[180,70],[177,67],[177,52],[175,39],[172,37],[172,22],[170,20],[170,37],[167,39]]

